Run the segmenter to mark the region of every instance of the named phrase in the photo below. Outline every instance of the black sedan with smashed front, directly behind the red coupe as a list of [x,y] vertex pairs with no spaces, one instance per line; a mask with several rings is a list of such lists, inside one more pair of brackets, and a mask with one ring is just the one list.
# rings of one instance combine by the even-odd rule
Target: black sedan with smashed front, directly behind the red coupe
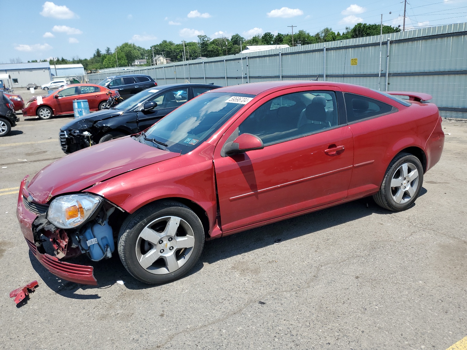
[[139,133],[191,98],[219,87],[212,84],[170,84],[141,91],[112,109],[87,114],[62,126],[60,146],[65,153],[72,153]]

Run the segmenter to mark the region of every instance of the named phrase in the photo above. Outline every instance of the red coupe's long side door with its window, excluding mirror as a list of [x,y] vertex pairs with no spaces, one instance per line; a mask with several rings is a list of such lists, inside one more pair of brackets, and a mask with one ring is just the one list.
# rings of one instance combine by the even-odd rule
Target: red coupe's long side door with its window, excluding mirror
[[[264,98],[219,141],[214,168],[222,231],[347,198],[354,146],[350,128],[339,119],[345,113],[342,93],[307,89]],[[258,136],[265,147],[222,154],[242,133]]]

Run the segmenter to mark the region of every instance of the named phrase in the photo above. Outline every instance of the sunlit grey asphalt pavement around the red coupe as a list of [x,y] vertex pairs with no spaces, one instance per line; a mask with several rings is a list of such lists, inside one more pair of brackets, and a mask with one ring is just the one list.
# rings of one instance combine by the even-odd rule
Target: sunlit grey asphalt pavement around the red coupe
[[[42,267],[15,214],[24,175],[65,155],[71,118],[20,118],[0,138],[1,349],[445,350],[467,336],[467,122],[443,122],[443,156],[409,210],[363,198],[212,240],[162,286],[114,254],[92,263],[92,287]],[[32,280],[17,307],[9,292]]]

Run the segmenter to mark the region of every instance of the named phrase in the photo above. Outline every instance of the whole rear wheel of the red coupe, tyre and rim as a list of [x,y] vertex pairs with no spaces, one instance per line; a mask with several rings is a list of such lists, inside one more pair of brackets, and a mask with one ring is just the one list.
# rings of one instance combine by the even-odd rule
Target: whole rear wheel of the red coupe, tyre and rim
[[400,153],[389,163],[378,193],[373,199],[380,207],[391,211],[410,208],[423,184],[420,160],[408,153]]

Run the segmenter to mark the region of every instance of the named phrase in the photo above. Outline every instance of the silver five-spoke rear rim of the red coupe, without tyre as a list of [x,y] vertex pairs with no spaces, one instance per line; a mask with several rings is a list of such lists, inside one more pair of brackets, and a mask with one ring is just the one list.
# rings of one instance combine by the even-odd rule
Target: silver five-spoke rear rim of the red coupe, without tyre
[[412,163],[403,163],[391,179],[391,195],[396,203],[403,204],[415,195],[418,187],[418,170]]

